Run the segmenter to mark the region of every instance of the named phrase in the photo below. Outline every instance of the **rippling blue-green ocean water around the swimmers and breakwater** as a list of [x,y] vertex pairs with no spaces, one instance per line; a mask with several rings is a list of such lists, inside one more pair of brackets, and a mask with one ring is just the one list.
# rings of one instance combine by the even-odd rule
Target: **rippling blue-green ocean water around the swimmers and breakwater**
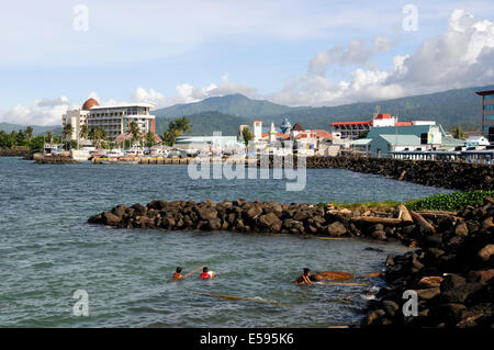
[[[356,324],[369,287],[295,286],[305,267],[381,271],[406,248],[362,239],[115,229],[87,223],[122,203],[155,199],[306,202],[405,201],[449,190],[339,169],[308,169],[304,191],[285,180],[192,180],[187,166],[34,165],[0,158],[0,327],[326,327]],[[378,248],[367,250],[366,248]],[[199,273],[207,266],[216,279]],[[74,293],[88,294],[75,316]],[[282,303],[226,301],[201,293]],[[343,298],[357,294],[351,302]]]

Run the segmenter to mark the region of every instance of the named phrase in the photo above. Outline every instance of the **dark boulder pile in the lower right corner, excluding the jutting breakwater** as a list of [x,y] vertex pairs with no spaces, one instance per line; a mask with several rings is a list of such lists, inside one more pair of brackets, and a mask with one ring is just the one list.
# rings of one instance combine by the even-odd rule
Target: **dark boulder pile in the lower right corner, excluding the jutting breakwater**
[[[420,227],[420,249],[389,257],[381,289],[363,326],[492,328],[494,325],[494,200]],[[404,316],[405,291],[417,316]],[[408,307],[408,306],[406,306]]]

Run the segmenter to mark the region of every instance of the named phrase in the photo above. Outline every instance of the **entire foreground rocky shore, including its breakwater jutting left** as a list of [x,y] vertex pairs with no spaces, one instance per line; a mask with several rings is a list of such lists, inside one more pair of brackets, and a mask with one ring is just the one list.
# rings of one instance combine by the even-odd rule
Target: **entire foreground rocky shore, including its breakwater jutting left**
[[[362,326],[492,327],[494,300],[494,200],[461,213],[338,210],[319,204],[153,201],[120,204],[88,222],[120,228],[370,237],[420,247],[389,256],[388,287],[369,304]],[[404,317],[403,292],[418,296],[418,316]]]

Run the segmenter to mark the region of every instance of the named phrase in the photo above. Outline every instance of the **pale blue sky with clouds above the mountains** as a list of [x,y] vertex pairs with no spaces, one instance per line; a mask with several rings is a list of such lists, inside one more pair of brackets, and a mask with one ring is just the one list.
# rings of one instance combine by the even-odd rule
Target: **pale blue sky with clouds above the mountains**
[[494,83],[492,0],[409,1],[2,3],[0,122],[56,125],[89,97],[322,106]]

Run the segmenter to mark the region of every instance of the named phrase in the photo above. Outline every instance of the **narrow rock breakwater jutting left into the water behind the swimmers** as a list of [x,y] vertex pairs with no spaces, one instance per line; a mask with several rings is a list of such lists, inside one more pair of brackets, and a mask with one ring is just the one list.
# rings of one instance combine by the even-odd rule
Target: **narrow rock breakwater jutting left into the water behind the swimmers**
[[372,237],[397,239],[405,245],[418,237],[417,224],[404,205],[389,212],[337,210],[319,204],[203,201],[153,201],[147,205],[120,204],[89,223],[119,228],[199,229],[239,233]]

